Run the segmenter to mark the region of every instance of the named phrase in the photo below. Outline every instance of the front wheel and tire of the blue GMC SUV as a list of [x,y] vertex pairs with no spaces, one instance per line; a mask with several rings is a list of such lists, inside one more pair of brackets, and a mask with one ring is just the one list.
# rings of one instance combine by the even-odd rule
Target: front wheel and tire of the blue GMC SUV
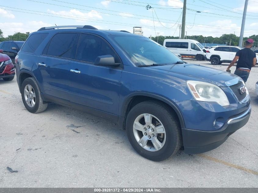
[[[151,116],[149,125],[145,120]],[[125,126],[131,145],[147,159],[162,161],[175,154],[182,145],[179,120],[162,102],[145,101],[135,105],[128,113]],[[157,134],[157,129],[162,134]]]

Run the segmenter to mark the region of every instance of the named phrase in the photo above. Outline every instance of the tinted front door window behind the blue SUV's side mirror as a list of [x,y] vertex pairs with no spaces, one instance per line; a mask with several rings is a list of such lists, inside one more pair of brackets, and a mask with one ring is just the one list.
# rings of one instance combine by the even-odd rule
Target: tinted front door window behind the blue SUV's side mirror
[[76,59],[94,63],[100,55],[112,55],[115,58],[115,52],[103,39],[89,34],[82,34]]

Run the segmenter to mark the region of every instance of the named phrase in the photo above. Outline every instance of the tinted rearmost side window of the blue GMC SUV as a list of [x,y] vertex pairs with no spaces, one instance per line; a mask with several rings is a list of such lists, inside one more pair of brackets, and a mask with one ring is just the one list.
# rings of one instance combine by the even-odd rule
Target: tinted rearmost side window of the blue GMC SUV
[[27,41],[25,41],[22,51],[33,53],[42,43],[42,41],[47,37],[48,33],[45,34],[32,34],[29,36]]

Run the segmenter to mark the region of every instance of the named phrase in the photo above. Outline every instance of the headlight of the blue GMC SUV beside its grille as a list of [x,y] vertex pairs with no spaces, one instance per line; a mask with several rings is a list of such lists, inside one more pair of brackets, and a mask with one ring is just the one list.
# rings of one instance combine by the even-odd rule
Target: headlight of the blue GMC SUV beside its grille
[[217,102],[221,106],[229,105],[226,94],[215,84],[188,80],[187,86],[197,101]]

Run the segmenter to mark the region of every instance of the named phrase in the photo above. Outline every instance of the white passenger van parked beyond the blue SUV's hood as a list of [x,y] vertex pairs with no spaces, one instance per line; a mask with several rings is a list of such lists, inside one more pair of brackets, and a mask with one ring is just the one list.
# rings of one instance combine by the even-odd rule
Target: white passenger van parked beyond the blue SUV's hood
[[163,46],[174,54],[181,54],[182,58],[205,59],[206,50],[196,40],[165,39]]

